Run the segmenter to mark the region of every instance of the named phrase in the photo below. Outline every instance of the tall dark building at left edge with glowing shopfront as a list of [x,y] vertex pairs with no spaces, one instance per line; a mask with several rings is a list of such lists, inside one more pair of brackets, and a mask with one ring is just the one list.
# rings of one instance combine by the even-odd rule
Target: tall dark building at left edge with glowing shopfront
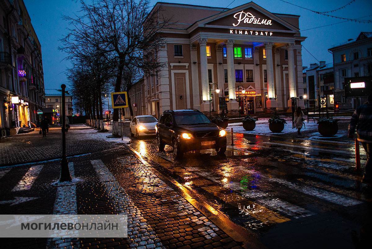
[[23,0],[0,0],[0,127],[38,124],[44,104],[41,45]]

